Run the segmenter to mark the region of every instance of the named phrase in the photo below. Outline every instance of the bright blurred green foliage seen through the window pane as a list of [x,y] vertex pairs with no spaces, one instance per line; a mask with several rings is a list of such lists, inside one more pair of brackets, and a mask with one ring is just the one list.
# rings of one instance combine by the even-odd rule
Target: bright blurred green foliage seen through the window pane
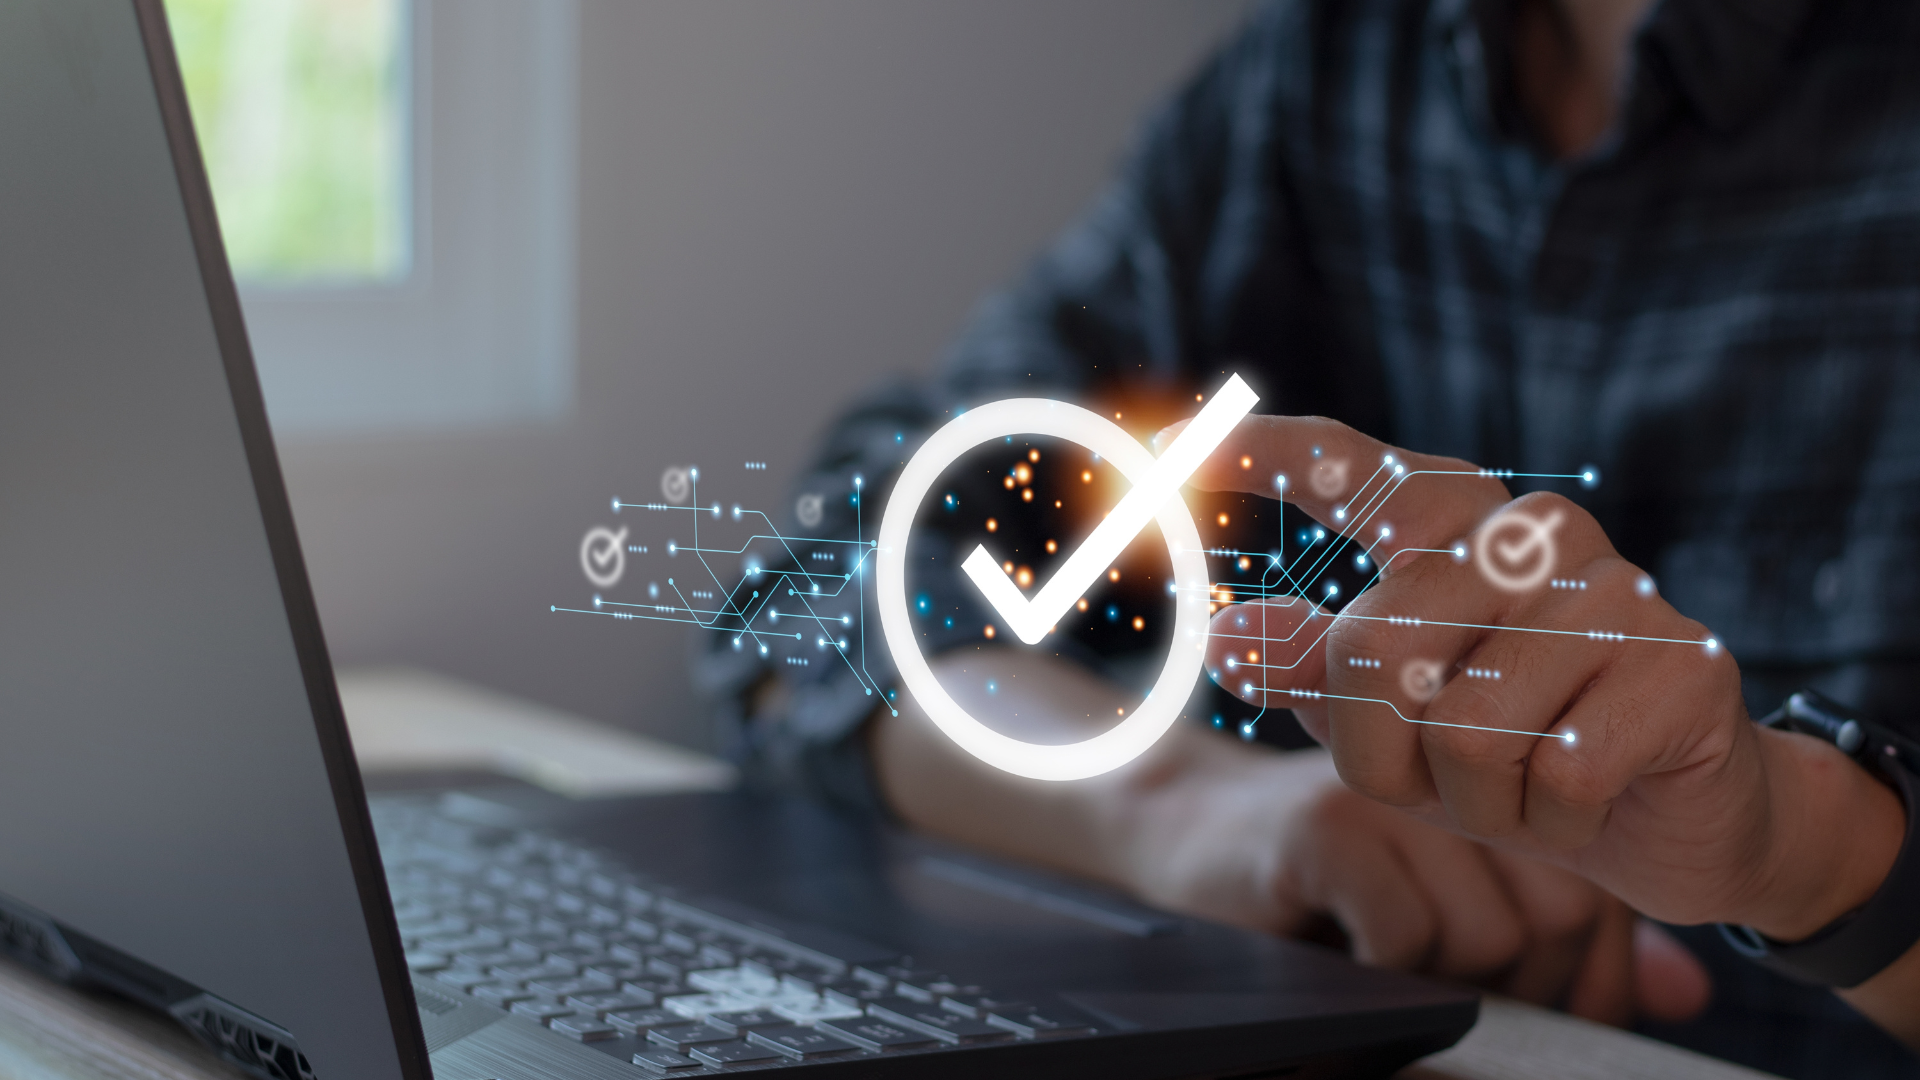
[[407,271],[405,0],[165,0],[234,275]]

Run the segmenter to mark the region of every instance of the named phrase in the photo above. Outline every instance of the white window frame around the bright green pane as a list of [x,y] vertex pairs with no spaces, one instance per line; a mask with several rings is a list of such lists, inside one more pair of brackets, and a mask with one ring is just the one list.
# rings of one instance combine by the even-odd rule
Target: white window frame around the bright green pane
[[574,402],[576,0],[407,0],[411,234],[390,282],[240,282],[276,434]]

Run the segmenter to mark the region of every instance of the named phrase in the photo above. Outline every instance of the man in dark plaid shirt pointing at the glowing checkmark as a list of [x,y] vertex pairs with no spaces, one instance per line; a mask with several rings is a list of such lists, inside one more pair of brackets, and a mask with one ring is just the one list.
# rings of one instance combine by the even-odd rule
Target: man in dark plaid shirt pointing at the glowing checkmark
[[[1227,371],[1286,417],[1242,423],[1196,486],[1271,498],[1286,475],[1321,538],[1388,455],[1603,482],[1421,477],[1384,511],[1392,540],[1363,538],[1384,577],[1338,619],[1354,580],[1329,611],[1223,607],[1210,669],[1250,707],[1219,726],[1252,744],[1177,726],[1114,774],[1023,782],[904,696],[876,719],[831,667],[772,676],[722,653],[743,753],[1367,963],[1667,1020],[1651,1030],[1786,1074],[1920,1074],[1901,1045],[1920,1045],[1920,955],[1836,995],[1680,930],[1715,1005],[1678,1022],[1707,997],[1699,961],[1632,915],[1797,942],[1864,903],[1903,844],[1891,788],[1747,717],[1812,684],[1920,732],[1916,46],[1920,8],[1891,0],[1269,6],[939,379],[854,409],[808,484],[885,492],[914,436],[1008,396],[1100,402],[1152,432]],[[1332,419],[1290,419],[1313,413]],[[1317,494],[1336,461],[1357,473]],[[1010,498],[981,477],[958,477],[952,503]],[[1258,498],[1206,505],[1210,544],[1331,540],[1296,538],[1302,519]],[[1452,557],[1509,511],[1551,534],[1567,588],[1498,588]],[[950,550],[977,517],[952,515]],[[1006,513],[996,544],[1044,580],[1056,532],[1031,517]],[[845,511],[820,528],[852,527]],[[925,588],[935,671],[1002,730],[1066,742],[1139,701],[1075,644],[1125,621],[1006,648],[958,575]],[[1309,648],[1248,657],[1248,621],[1283,653]],[[1632,640],[1524,632],[1546,626]],[[1436,692],[1409,696],[1409,657]]]

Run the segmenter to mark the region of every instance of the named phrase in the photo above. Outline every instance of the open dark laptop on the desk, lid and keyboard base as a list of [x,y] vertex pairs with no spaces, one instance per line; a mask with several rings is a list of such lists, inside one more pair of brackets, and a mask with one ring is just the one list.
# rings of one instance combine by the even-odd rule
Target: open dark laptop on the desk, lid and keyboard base
[[751,796],[369,801],[159,0],[0,4],[0,951],[276,1080],[1388,1074],[1475,994]]

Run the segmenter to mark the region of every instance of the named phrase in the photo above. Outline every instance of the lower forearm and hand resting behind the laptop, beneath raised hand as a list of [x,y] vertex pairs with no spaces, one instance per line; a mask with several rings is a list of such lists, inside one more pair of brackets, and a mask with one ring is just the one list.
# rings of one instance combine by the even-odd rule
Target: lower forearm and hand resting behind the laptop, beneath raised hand
[[[968,709],[1035,740],[1079,738],[1131,698],[1025,650],[966,650],[935,667]],[[1705,1005],[1697,963],[1657,930],[1636,934],[1603,890],[1359,798],[1323,751],[1179,726],[1117,773],[1048,784],[956,753],[910,703],[874,728],[874,751],[889,803],[916,826],[1173,911],[1290,936],[1332,924],[1365,963],[1596,1020]]]

